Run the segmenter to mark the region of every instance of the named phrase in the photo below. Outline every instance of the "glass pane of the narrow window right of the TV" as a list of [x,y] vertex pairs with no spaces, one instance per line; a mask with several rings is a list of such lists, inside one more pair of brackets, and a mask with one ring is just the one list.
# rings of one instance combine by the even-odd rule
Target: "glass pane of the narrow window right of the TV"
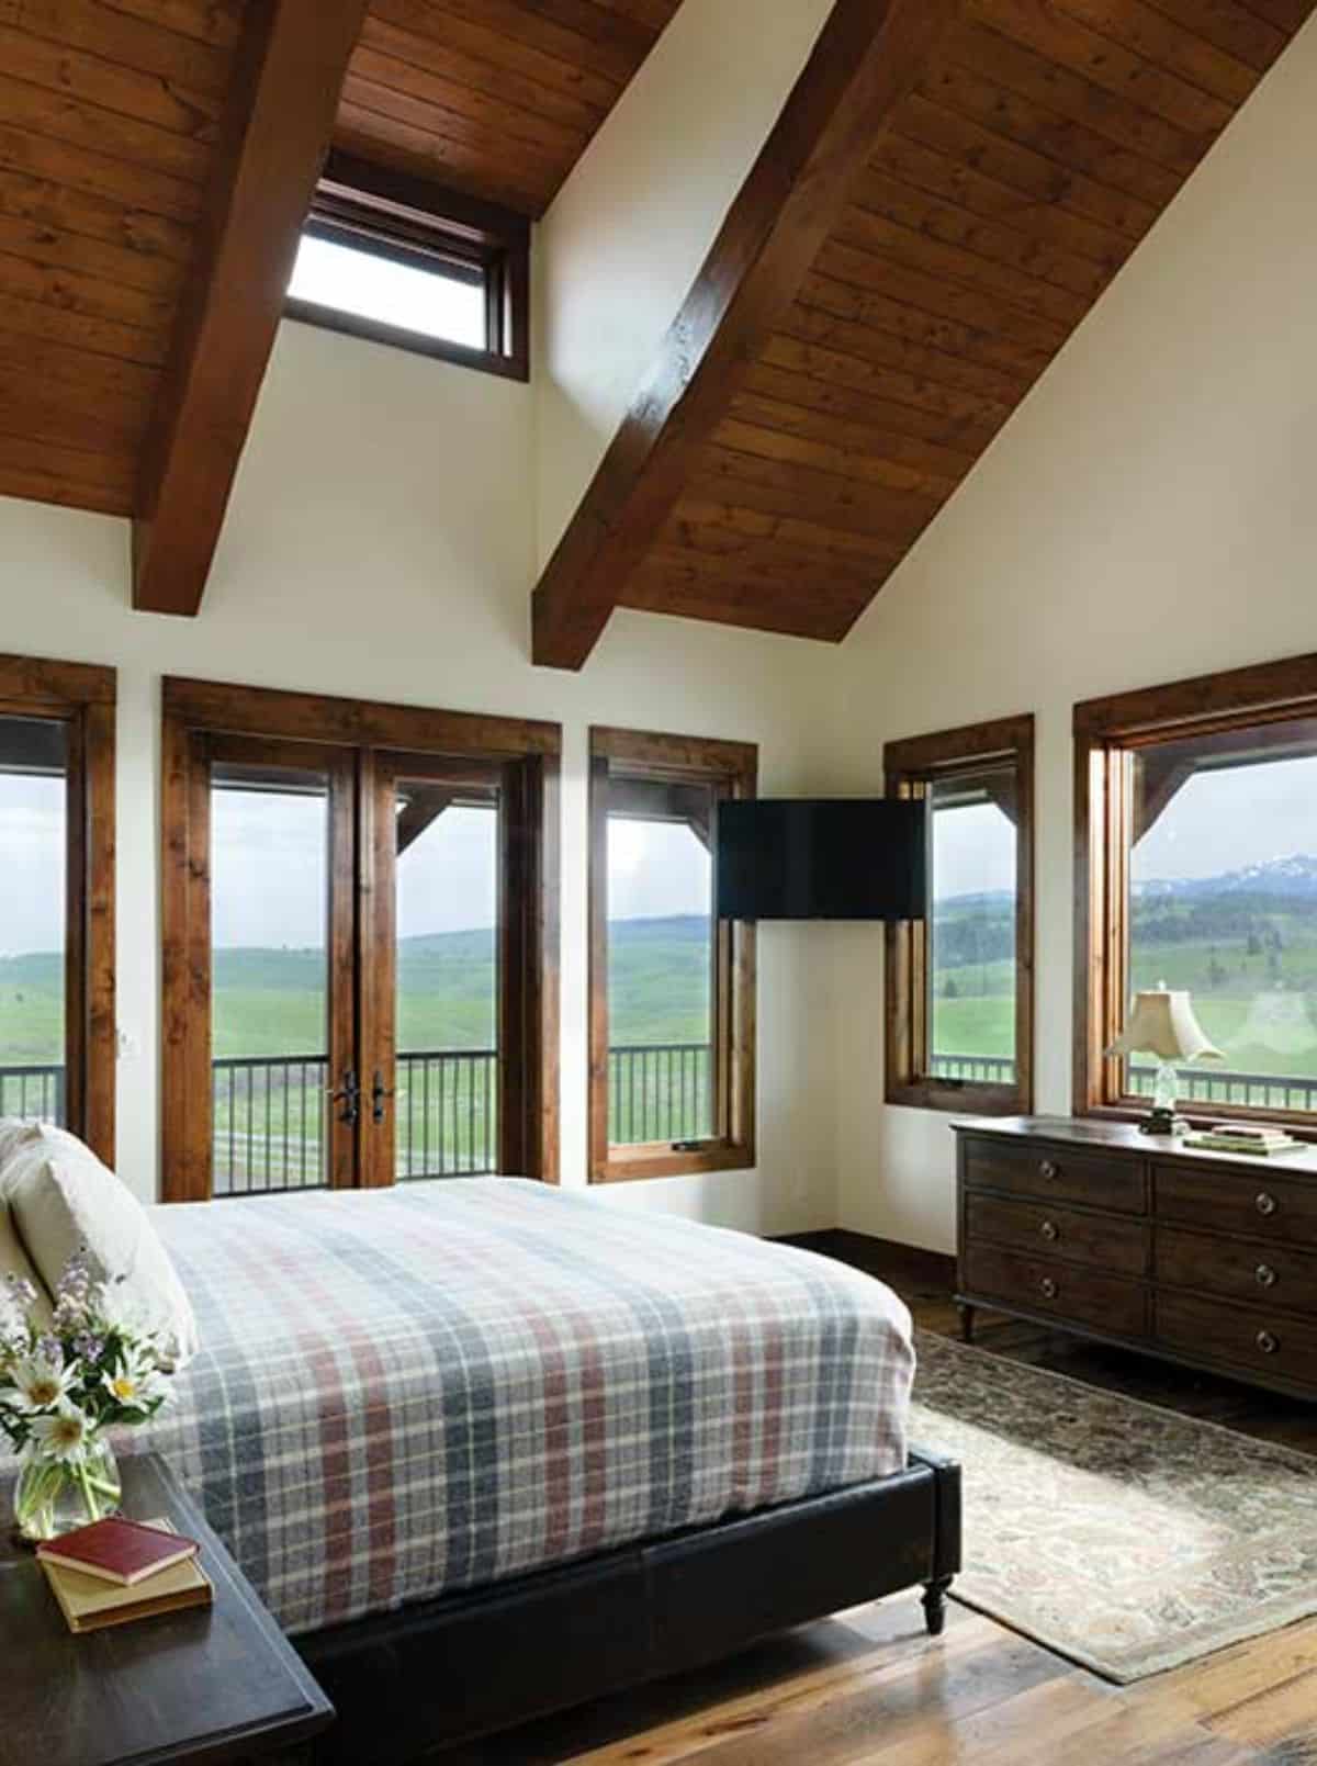
[[1015,768],[929,786],[934,1075],[1015,1083]]

